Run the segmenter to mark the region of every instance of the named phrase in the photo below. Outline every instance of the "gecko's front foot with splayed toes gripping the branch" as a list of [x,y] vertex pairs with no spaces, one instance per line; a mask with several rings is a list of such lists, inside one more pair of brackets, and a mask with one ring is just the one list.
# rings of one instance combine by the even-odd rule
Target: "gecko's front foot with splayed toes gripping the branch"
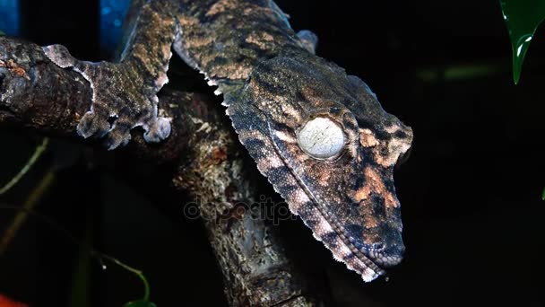
[[160,142],[169,136],[169,119],[157,116],[157,92],[168,81],[166,66],[145,77],[149,75],[146,67],[134,63],[80,61],[61,45],[43,49],[57,66],[72,67],[91,83],[91,110],[80,120],[78,135],[104,136],[108,149],[126,145],[134,127],[143,127],[146,142]]

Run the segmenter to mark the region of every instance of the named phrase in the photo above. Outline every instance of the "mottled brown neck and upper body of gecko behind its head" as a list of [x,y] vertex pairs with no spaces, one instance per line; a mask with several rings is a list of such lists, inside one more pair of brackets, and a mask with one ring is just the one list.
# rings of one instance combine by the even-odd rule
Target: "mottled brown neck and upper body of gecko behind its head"
[[260,60],[286,50],[306,52],[272,1],[189,2],[182,4],[177,20],[177,54],[221,89],[246,80]]

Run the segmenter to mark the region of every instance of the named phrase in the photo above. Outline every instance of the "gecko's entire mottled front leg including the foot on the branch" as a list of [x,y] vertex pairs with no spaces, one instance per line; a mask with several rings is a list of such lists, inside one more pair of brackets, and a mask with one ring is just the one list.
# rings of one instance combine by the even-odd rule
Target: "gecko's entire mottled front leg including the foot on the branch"
[[[109,149],[126,145],[130,130],[138,126],[145,130],[148,142],[169,136],[169,120],[157,116],[157,92],[169,81],[170,45],[178,29],[173,18],[163,18],[161,11],[167,8],[159,1],[143,5],[139,31],[130,39],[120,63],[80,61],[60,45],[44,48],[56,65],[73,67],[91,83],[93,103],[78,125],[80,136],[108,134]],[[116,119],[111,127],[108,119]]]

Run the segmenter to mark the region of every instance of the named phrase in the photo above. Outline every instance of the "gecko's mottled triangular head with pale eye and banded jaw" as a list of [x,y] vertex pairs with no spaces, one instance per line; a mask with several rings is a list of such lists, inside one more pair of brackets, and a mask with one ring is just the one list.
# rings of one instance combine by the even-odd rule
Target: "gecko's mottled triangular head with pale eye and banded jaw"
[[401,261],[393,171],[412,131],[365,83],[319,57],[275,57],[230,100],[259,170],[335,259],[366,281]]

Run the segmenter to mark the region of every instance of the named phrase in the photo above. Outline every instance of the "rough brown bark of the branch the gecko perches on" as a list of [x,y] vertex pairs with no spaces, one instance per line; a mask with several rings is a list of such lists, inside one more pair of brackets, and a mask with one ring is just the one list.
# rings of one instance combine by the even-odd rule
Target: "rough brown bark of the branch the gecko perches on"
[[[35,44],[0,37],[0,127],[76,137],[75,127],[90,106],[91,88],[81,75],[48,61]],[[206,95],[167,92],[160,97],[160,112],[172,118],[172,135],[148,145],[141,132],[133,133],[127,152],[178,165],[174,186],[199,200],[229,303],[314,305],[271,227],[243,205],[252,204],[255,188],[221,108],[211,108]]]

